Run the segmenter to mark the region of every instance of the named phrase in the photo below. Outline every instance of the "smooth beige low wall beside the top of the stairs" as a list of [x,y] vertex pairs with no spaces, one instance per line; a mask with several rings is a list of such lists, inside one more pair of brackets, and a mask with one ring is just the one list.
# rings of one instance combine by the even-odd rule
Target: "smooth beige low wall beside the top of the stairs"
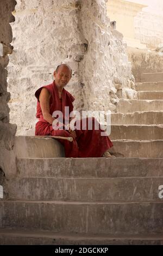
[[127,52],[136,82],[141,81],[142,73],[163,72],[162,53],[132,47],[128,47]]

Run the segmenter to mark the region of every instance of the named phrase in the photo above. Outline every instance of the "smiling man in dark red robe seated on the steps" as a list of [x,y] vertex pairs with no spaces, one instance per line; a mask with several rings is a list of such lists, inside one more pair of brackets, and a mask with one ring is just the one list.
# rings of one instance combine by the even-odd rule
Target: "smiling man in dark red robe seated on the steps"
[[[35,135],[51,135],[72,137],[70,142],[64,139],[58,139],[65,147],[66,157],[115,157],[111,156],[108,149],[112,147],[112,142],[108,136],[101,136],[103,130],[89,129],[53,129],[52,117],[56,110],[64,114],[65,106],[69,106],[70,112],[73,110],[74,97],[65,90],[72,76],[71,68],[66,64],[61,64],[54,71],[54,81],[52,84],[42,86],[35,92],[37,98],[36,117],[39,121],[36,123]],[[82,120],[81,120],[82,121]],[[95,122],[93,118],[93,122]],[[64,127],[64,124],[63,124]]]

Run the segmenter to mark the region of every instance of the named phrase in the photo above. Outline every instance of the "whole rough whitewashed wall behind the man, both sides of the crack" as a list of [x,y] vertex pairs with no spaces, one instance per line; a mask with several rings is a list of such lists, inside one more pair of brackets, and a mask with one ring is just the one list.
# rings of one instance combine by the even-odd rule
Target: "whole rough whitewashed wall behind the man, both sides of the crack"
[[18,134],[34,128],[34,92],[52,82],[60,63],[73,69],[66,88],[77,110],[116,111],[119,97],[136,96],[126,45],[111,31],[105,0],[18,0],[14,15],[8,84]]

